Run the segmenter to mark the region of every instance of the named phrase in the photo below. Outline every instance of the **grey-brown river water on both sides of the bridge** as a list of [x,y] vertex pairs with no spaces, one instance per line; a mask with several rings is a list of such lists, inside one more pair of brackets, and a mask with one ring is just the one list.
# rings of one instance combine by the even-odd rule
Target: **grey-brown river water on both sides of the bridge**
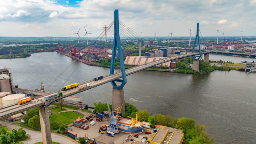
[[[210,59],[253,61],[222,55],[210,55]],[[19,88],[32,90],[44,82],[50,92],[109,74],[109,68],[87,66],[56,52],[0,59],[0,68],[4,66],[12,68],[14,83]],[[256,142],[255,86],[256,73],[231,70],[192,75],[144,70],[127,76],[124,92],[125,101],[138,110],[193,118],[207,126],[217,144],[244,144]],[[89,106],[94,106],[94,102],[111,103],[112,85],[107,83],[75,96],[82,97]]]

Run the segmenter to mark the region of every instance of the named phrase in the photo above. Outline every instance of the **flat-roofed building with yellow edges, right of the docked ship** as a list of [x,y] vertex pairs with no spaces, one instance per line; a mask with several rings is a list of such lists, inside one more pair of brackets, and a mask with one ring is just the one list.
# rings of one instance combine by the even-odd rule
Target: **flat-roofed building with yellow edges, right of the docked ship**
[[150,141],[150,144],[182,144],[183,140],[183,130],[170,127],[163,127],[158,129],[158,131]]

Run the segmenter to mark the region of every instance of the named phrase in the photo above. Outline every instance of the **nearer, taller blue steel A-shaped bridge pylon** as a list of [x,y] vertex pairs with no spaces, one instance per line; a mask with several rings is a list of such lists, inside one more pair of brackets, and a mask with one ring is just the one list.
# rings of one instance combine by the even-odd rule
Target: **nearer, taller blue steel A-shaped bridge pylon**
[[[116,47],[117,47],[123,80],[114,80],[114,81],[111,81],[111,84],[112,84],[113,88],[115,88],[115,89],[123,89],[127,80],[126,80],[125,64],[124,64],[124,58],[123,58],[122,47],[121,47],[120,36],[119,36],[118,9],[114,11],[114,25],[115,25],[115,31],[114,31],[114,42],[113,42],[110,74],[114,73]],[[122,84],[120,86],[117,86],[115,82],[121,82]]]

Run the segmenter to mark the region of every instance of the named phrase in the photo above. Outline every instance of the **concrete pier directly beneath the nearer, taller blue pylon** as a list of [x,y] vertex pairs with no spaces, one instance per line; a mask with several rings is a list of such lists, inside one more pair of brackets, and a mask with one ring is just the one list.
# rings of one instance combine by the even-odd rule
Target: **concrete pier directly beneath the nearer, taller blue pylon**
[[124,89],[113,88],[112,91],[112,111],[115,111],[116,107],[122,106],[121,113],[125,113],[125,93]]

